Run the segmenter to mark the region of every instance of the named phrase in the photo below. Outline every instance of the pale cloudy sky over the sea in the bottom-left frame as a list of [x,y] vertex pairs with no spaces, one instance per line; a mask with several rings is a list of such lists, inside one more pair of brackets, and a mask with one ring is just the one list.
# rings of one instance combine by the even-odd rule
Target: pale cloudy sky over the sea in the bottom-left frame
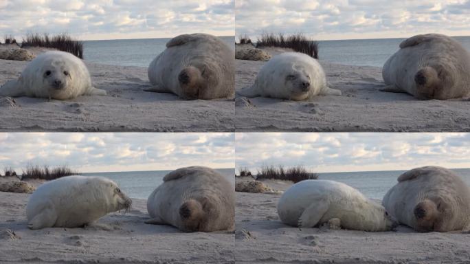
[[[0,133],[0,171],[27,164],[81,173],[234,168],[233,133]],[[3,171],[2,171],[3,172]]]

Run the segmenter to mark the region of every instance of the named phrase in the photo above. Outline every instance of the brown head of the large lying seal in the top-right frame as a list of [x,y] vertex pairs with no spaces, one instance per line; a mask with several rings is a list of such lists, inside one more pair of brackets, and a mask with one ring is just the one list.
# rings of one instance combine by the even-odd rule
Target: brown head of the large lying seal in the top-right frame
[[[430,99],[449,99],[449,95],[453,94],[449,90],[454,87],[451,74],[443,65],[434,65],[423,67],[414,75],[414,83],[416,85],[416,97],[424,100]],[[446,87],[446,89],[443,89]]]

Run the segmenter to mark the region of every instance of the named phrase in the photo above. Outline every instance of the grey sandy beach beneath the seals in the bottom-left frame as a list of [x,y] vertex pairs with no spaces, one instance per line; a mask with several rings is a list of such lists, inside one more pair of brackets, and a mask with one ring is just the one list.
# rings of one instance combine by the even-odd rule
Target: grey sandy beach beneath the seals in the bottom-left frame
[[87,228],[33,231],[25,216],[29,196],[0,192],[0,263],[234,263],[233,233],[148,225],[144,199]]

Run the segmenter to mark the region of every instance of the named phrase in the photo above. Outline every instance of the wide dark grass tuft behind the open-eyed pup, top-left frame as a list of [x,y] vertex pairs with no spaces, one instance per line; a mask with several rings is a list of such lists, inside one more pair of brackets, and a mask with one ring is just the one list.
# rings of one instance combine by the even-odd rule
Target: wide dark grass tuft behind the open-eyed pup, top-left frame
[[49,36],[49,34],[28,33],[21,47],[49,47],[83,58],[83,42],[66,33]]

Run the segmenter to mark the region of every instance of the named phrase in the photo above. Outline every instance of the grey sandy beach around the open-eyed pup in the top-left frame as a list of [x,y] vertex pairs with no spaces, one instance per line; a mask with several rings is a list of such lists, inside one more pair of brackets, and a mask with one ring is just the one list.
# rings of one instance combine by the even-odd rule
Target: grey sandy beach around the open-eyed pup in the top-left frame
[[[145,67],[86,64],[91,82],[107,96],[0,97],[0,131],[234,131],[233,100],[189,101],[146,92]],[[0,60],[0,85],[18,78],[26,65]]]

